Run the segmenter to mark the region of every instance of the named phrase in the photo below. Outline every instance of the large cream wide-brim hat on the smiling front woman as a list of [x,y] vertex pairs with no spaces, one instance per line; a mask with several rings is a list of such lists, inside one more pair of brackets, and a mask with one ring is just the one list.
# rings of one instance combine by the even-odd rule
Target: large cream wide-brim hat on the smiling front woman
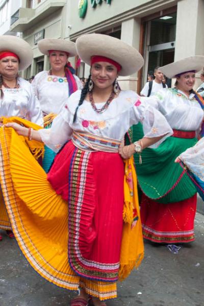
[[122,67],[119,75],[131,75],[144,64],[144,59],[137,49],[120,39],[104,34],[86,34],[76,41],[79,57],[91,65],[92,56],[107,57]]

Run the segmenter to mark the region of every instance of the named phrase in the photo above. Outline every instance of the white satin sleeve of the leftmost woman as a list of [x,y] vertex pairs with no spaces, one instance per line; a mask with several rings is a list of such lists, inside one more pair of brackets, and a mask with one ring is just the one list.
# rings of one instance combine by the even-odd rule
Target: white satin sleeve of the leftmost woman
[[29,83],[29,110],[26,119],[43,126],[42,110],[37,96],[34,94],[31,84]]

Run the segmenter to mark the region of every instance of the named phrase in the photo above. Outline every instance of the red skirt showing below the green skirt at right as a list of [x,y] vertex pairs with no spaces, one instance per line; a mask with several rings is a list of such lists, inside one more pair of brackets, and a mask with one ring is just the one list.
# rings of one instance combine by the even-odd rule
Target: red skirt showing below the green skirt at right
[[194,241],[197,195],[183,201],[162,204],[142,195],[143,237],[158,243]]

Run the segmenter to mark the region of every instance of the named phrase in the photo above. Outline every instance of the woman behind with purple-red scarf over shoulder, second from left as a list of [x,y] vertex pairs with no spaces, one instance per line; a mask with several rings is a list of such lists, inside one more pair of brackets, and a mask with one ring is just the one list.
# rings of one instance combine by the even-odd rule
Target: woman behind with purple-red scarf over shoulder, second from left
[[[48,56],[50,63],[50,70],[39,72],[32,82],[43,112],[44,127],[47,129],[51,127],[55,116],[61,112],[66,98],[83,86],[68,61],[69,57],[77,55],[74,42],[45,38],[38,42],[38,48],[41,53]],[[45,172],[48,172],[55,155],[53,150],[45,146],[42,162]]]

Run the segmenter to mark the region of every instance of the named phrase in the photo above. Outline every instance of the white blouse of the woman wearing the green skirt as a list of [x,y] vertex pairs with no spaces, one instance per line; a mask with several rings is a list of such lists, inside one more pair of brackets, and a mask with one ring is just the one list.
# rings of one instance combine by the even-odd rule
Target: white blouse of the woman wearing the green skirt
[[159,110],[172,129],[199,133],[204,113],[194,93],[188,97],[181,90],[168,88],[158,91],[154,96],[141,97],[141,101]]

